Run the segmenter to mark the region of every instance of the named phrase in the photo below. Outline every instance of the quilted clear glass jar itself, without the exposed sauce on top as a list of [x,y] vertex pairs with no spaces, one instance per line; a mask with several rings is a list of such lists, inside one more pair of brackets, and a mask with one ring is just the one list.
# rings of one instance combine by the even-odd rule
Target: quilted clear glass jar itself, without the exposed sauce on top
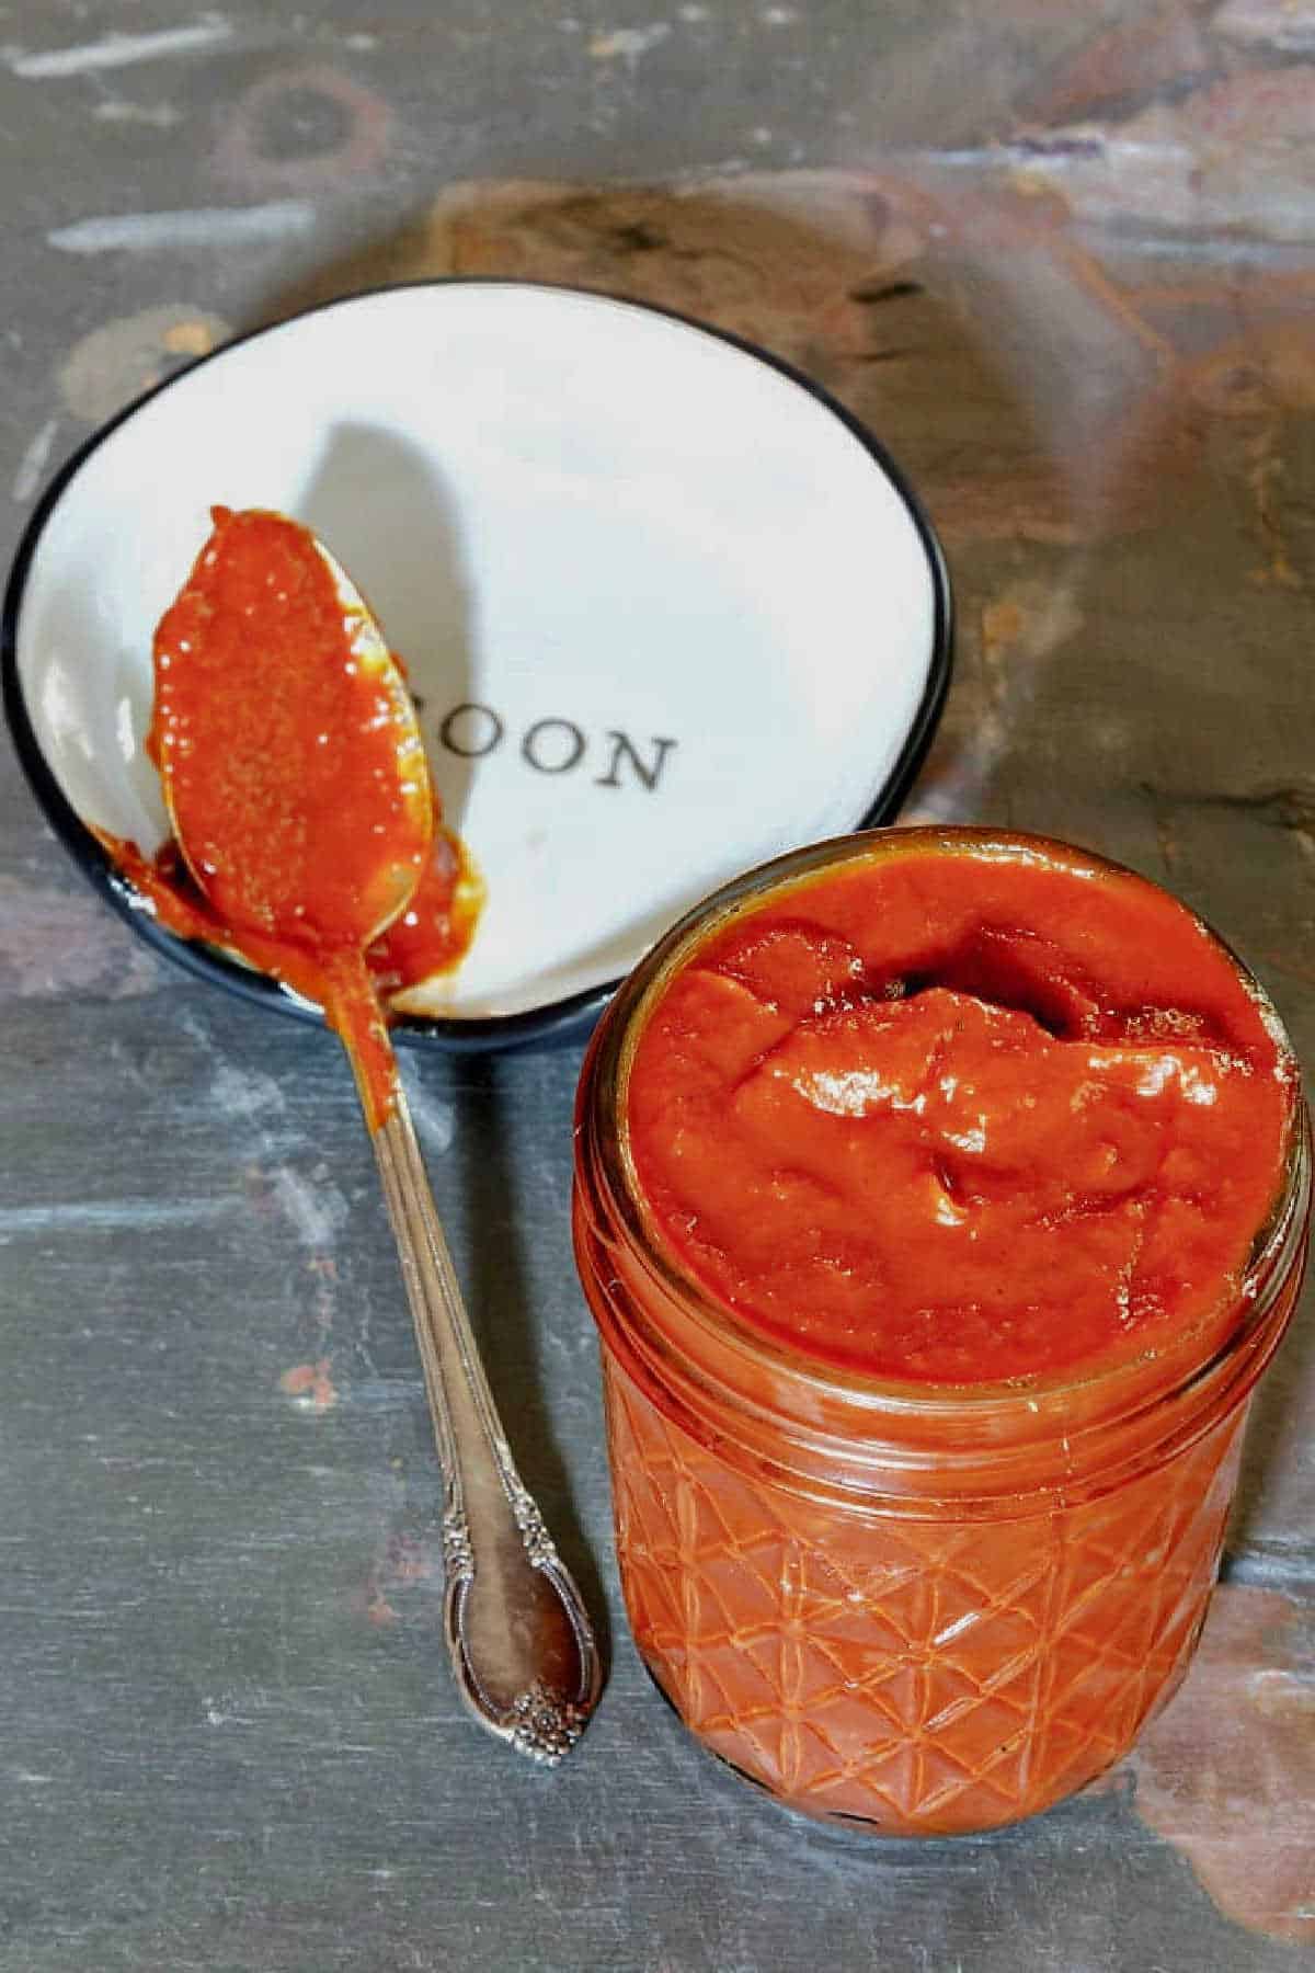
[[[931,835],[954,848],[988,833],[840,839],[710,898],[617,994],[576,1115],[576,1259],[601,1336],[639,1651],[741,1776],[883,1835],[980,1831],[1049,1807],[1120,1760],[1177,1687],[1248,1397],[1299,1292],[1311,1190],[1297,1093],[1240,1292],[1155,1353],[1086,1373],[881,1383],[718,1304],[655,1237],[625,1150],[647,1014],[731,915]],[[1287,1052],[1262,988],[1238,973]]]

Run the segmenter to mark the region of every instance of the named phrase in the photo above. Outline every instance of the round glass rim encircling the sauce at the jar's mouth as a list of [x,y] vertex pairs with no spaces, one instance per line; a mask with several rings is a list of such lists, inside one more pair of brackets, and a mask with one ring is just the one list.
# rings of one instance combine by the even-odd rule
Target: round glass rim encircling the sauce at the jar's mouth
[[[921,1381],[873,1375],[856,1365],[834,1363],[795,1350],[791,1344],[739,1316],[737,1310],[708,1292],[690,1271],[680,1267],[666,1243],[655,1237],[645,1217],[639,1186],[625,1150],[625,1087],[645,1016],[670,977],[698,945],[704,945],[735,917],[751,912],[769,896],[804,888],[822,870],[842,868],[850,862],[881,860],[887,854],[899,856],[934,850],[958,850],[960,854],[1009,858],[1013,862],[1019,856],[1035,856],[1039,862],[1051,864],[1059,860],[1065,870],[1073,870],[1078,876],[1128,878],[1138,886],[1159,892],[1193,917],[1209,941],[1224,955],[1254,1000],[1260,1020],[1278,1050],[1280,1073],[1289,1089],[1289,1103],[1283,1123],[1283,1162],[1270,1211],[1256,1233],[1240,1279],[1216,1302],[1197,1314],[1191,1324],[1175,1330],[1159,1348],[1153,1344],[1140,1350],[1130,1348],[1116,1355],[1096,1357],[1086,1367],[1078,1365],[1076,1371],[1063,1367],[994,1381]],[[1301,1223],[1309,1209],[1311,1154],[1301,1075],[1293,1046],[1266,988],[1228,941],[1199,912],[1181,898],[1175,898],[1173,892],[1167,892],[1128,864],[1114,862],[1094,850],[1078,848],[1059,837],[1027,831],[968,823],[869,829],[828,837],[800,850],[789,850],[731,878],[686,912],[649,949],[623,983],[589,1050],[582,1095],[586,1085],[591,1087],[593,1101],[605,1105],[615,1125],[603,1142],[595,1144],[611,1192],[611,1207],[619,1215],[635,1249],[643,1255],[645,1267],[658,1279],[666,1292],[678,1296],[684,1314],[720,1346],[729,1346],[755,1369],[785,1375],[793,1385],[804,1387],[822,1401],[840,1399],[846,1405],[871,1411],[873,1417],[879,1415],[891,1421],[903,1419],[933,1425],[948,1417],[956,1421],[970,1421],[974,1417],[998,1419],[1002,1413],[1025,1415],[1051,1411],[1053,1407],[1069,1405],[1074,1397],[1092,1401],[1094,1413],[1110,1417],[1124,1411],[1124,1397],[1134,1407],[1140,1397],[1145,1397],[1145,1379],[1155,1369],[1161,1373],[1155,1377],[1155,1401],[1161,1397],[1189,1397],[1195,1387],[1209,1385],[1214,1373],[1262,1326],[1272,1306],[1272,1296],[1264,1292],[1266,1280],[1274,1275],[1274,1265],[1293,1225]],[[580,1129],[582,1123],[578,1121]],[[1228,1322],[1220,1332],[1220,1322],[1232,1310],[1238,1312],[1238,1320]]]

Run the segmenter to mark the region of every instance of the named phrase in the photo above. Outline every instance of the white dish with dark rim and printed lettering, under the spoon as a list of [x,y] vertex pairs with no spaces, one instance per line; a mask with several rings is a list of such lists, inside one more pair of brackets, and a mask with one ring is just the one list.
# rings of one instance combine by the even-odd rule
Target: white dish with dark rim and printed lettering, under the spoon
[[931,738],[950,598],[879,444],[793,371],[607,296],[426,282],[227,345],[41,499],[4,608],[10,726],[53,827],[152,945],[87,825],[154,850],[154,625],[209,509],[333,550],[406,661],[446,819],[487,884],[465,963],[398,1036],[574,1024],[698,898],[889,819]]

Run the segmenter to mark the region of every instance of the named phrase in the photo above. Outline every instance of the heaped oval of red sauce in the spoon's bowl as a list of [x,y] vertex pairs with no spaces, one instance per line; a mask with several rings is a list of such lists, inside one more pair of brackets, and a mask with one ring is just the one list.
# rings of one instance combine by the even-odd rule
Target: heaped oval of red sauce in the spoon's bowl
[[215,509],[154,657],[148,752],[215,915],[359,951],[414,890],[434,805],[410,704],[313,537]]

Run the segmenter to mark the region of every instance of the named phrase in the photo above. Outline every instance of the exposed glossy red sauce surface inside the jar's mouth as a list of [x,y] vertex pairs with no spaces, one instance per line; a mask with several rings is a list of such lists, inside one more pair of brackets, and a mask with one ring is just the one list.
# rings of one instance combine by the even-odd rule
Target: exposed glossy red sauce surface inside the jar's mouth
[[655,1235],[745,1322],[879,1377],[1143,1348],[1236,1292],[1291,1067],[1173,898],[1057,852],[873,856],[658,994],[627,1087]]

